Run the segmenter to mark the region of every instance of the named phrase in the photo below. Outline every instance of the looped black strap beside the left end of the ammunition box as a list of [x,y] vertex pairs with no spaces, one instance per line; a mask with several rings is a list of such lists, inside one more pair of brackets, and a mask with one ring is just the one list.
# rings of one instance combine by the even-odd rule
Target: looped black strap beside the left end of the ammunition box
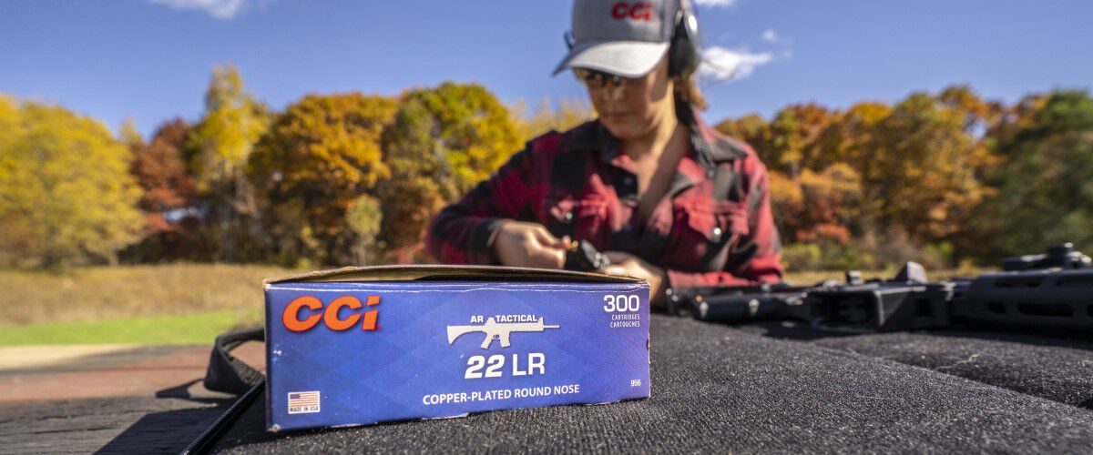
[[205,371],[204,386],[210,391],[242,395],[266,380],[254,367],[232,356],[232,349],[247,342],[265,342],[265,327],[227,332],[216,337]]

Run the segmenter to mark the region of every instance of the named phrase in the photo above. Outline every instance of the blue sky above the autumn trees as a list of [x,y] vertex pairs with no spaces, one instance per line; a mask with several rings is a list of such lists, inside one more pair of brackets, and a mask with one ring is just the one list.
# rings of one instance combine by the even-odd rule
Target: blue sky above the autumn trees
[[[703,0],[704,83],[717,121],[814,100],[846,107],[971,84],[1012,101],[1093,86],[1093,2]],[[479,82],[506,103],[584,97],[564,55],[567,0],[2,0],[0,93],[58,103],[111,129],[196,119],[232,62],[277,109],[308,93]],[[716,49],[715,49],[716,48]],[[741,65],[742,64],[742,65]]]

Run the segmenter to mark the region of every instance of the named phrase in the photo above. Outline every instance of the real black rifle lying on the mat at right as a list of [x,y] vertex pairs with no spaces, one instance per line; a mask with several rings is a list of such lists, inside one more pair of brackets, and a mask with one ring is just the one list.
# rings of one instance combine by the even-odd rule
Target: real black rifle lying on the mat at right
[[721,323],[794,319],[851,333],[980,325],[1093,334],[1093,261],[1065,243],[975,277],[930,282],[908,262],[892,279],[863,280],[851,271],[846,283],[810,287],[677,288],[668,301],[672,314]]

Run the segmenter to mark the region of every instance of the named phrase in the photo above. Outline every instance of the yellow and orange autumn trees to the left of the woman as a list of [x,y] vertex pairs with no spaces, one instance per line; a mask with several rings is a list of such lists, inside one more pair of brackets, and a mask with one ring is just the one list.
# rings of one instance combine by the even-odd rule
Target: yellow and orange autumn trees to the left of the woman
[[0,266],[427,261],[433,214],[587,105],[505,106],[477,84],[307,95],[273,111],[216,68],[193,122],[118,137],[0,95]]

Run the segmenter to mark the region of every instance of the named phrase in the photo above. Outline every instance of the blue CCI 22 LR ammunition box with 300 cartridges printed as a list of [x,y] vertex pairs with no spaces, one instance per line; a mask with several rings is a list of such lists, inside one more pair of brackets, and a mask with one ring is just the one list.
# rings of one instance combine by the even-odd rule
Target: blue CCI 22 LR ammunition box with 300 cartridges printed
[[270,431],[649,396],[649,286],[565,271],[349,267],[266,282]]

